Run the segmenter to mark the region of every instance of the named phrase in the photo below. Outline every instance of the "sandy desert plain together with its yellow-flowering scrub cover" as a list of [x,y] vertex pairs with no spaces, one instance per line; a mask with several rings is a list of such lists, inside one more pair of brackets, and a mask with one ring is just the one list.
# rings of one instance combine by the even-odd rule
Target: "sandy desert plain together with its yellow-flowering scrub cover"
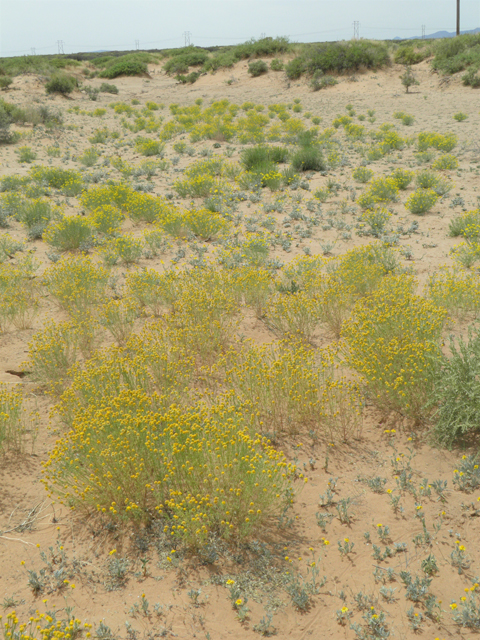
[[[244,59],[270,63],[282,43],[251,44]],[[338,63],[355,46],[317,49]],[[393,57],[404,46],[423,57],[435,43],[373,49]],[[286,63],[312,57],[287,49]],[[240,60],[235,47],[201,51],[204,66],[179,73]],[[134,55],[150,70],[175,57]],[[296,612],[308,625],[320,604],[328,637],[339,626],[349,638],[436,637],[438,624],[472,633],[475,92],[458,78],[424,82],[427,57],[414,100],[398,96],[401,71],[362,68],[318,71],[339,81],[318,102],[307,70],[285,93],[282,73],[269,64],[248,80],[245,62],[194,93],[160,66],[123,77],[120,102],[96,91],[120,52],[76,57],[95,105],[80,92],[46,97],[33,76],[14,78],[12,104],[0,101],[15,143],[0,145],[0,378],[40,412],[35,455],[27,438],[0,465],[6,633],[29,635],[31,616],[38,637],[73,636],[86,598],[83,635],[99,640],[185,624],[213,638],[222,603],[225,633],[242,638],[248,621],[296,639]],[[3,59],[0,77],[14,77],[14,63],[70,73],[69,60]],[[47,118],[55,102],[63,124]],[[147,141],[163,159],[142,156]],[[34,166],[18,163],[23,146]],[[309,149],[324,168],[294,169]],[[371,179],[380,186],[364,201]],[[405,208],[416,189],[434,191],[434,214]],[[92,235],[62,257],[41,234],[67,219]],[[49,460],[53,504],[35,482]],[[40,599],[48,619],[34,613]],[[65,627],[59,608],[73,619]]]

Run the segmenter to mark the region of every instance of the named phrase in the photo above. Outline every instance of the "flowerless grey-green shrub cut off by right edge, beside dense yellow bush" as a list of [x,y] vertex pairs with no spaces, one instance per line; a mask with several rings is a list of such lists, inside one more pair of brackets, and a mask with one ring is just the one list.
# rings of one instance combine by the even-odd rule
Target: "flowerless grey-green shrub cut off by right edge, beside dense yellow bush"
[[435,439],[451,447],[461,436],[480,430],[480,331],[469,327],[468,340],[450,337],[432,404]]

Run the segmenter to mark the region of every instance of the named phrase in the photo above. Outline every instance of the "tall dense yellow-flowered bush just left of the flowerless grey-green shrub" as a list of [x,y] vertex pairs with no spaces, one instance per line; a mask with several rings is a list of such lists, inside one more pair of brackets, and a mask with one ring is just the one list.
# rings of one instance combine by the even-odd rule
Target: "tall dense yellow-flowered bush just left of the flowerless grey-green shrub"
[[446,312],[415,295],[411,276],[389,276],[360,300],[342,330],[346,363],[384,412],[425,421]]

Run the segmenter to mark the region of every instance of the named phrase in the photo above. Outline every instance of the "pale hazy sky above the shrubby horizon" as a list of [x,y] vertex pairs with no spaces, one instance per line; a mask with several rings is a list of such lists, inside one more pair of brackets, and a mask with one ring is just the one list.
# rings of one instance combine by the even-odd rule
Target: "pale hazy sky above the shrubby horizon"
[[[455,31],[456,0],[0,0],[0,56],[292,42]],[[461,0],[461,29],[480,27],[480,0]],[[61,44],[59,44],[61,43]]]

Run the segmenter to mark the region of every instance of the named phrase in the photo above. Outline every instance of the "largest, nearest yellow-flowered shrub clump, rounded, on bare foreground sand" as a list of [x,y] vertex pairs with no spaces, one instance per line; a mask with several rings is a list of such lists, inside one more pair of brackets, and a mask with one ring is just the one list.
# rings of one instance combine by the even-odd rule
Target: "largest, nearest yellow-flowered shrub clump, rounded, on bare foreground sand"
[[162,408],[143,390],[124,389],[75,411],[45,483],[72,507],[161,519],[165,532],[196,546],[212,532],[255,534],[289,499],[293,473],[227,401]]

